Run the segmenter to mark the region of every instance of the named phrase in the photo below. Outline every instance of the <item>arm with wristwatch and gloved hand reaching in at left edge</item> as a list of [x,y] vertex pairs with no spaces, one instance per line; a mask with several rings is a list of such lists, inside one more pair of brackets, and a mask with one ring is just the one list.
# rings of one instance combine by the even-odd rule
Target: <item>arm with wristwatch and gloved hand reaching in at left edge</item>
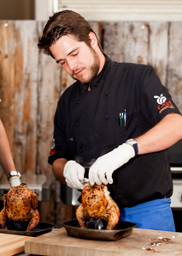
[[7,174],[10,186],[19,186],[21,184],[21,174],[15,170],[9,140],[4,129],[3,123],[0,120],[0,164]]

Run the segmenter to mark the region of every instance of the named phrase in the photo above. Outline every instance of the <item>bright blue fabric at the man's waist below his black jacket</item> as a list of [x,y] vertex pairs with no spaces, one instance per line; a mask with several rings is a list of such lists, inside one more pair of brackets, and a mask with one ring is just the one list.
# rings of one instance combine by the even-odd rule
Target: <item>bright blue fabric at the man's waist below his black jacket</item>
[[175,232],[171,199],[156,199],[120,210],[120,220],[137,223],[138,229],[155,229]]

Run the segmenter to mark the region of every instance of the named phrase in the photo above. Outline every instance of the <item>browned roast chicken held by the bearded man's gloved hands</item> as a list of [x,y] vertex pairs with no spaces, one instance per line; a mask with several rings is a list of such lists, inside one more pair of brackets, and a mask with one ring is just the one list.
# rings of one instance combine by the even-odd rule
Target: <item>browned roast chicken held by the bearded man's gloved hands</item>
[[86,221],[91,218],[104,219],[108,221],[107,230],[114,229],[119,221],[120,210],[109,190],[104,184],[91,186],[88,182],[81,193],[82,204],[76,210],[79,226],[86,229]]

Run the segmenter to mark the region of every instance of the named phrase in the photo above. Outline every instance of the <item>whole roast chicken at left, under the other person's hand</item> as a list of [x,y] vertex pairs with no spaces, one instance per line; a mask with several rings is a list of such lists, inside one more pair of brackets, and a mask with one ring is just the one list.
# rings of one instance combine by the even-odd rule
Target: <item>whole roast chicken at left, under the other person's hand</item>
[[12,186],[2,198],[3,210],[0,211],[2,229],[8,229],[8,219],[14,222],[28,222],[26,231],[31,231],[38,225],[38,196],[35,190],[32,192],[27,188],[26,183]]

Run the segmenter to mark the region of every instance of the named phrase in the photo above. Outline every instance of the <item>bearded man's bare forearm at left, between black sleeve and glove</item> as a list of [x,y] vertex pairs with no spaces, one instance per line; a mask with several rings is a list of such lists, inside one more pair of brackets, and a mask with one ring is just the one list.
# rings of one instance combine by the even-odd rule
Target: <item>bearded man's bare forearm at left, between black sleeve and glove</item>
[[56,159],[53,162],[52,170],[57,180],[59,180],[61,183],[66,184],[66,181],[63,176],[63,170],[65,167],[65,164],[68,162],[65,158],[59,158]]

